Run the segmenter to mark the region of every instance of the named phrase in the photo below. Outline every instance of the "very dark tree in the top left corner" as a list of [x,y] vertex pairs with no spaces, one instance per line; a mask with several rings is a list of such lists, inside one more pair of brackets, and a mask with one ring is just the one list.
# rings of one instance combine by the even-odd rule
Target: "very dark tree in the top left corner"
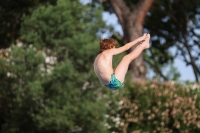
[[16,43],[21,28],[21,17],[30,15],[39,5],[56,4],[57,0],[7,0],[0,1],[0,48]]

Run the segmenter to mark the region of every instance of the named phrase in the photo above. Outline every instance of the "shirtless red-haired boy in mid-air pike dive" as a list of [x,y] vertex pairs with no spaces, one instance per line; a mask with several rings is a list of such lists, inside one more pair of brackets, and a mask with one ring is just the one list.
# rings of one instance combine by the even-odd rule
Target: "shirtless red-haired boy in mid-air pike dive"
[[[150,47],[149,40],[150,34],[144,34],[119,48],[116,48],[117,44],[112,39],[101,40],[99,42],[100,51],[94,61],[94,71],[101,83],[111,90],[119,89],[123,85],[130,62],[137,58],[144,49]],[[112,67],[113,56],[130,49],[137,43],[140,44],[131,53],[125,55],[114,70]]]

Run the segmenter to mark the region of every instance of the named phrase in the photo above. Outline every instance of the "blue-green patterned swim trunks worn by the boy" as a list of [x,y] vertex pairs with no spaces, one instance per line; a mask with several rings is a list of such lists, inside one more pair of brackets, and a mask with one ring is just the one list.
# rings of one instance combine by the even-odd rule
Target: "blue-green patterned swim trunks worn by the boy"
[[115,74],[113,73],[111,75],[110,83],[108,85],[105,85],[106,87],[110,88],[111,90],[117,90],[119,89],[123,83],[121,83],[116,77]]

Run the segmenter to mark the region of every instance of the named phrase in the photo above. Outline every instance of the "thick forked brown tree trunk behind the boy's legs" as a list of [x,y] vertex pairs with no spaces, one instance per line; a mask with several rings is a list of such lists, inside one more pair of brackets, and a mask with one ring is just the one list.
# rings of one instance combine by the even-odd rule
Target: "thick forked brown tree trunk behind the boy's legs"
[[[123,0],[109,0],[122,26],[124,44],[142,36],[144,19],[153,1],[139,0],[135,8],[131,11]],[[134,48],[132,47],[127,52],[130,53]],[[144,82],[146,80],[147,68],[142,54],[131,62],[129,70],[132,72],[132,81]]]

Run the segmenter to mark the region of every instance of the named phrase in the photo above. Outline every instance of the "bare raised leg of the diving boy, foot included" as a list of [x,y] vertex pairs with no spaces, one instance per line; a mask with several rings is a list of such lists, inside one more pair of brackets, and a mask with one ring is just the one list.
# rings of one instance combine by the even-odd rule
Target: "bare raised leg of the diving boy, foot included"
[[142,44],[139,44],[131,53],[125,55],[116,67],[115,76],[122,83],[124,82],[130,62],[137,58],[144,49],[149,48],[149,39],[150,35],[148,34],[145,41]]

